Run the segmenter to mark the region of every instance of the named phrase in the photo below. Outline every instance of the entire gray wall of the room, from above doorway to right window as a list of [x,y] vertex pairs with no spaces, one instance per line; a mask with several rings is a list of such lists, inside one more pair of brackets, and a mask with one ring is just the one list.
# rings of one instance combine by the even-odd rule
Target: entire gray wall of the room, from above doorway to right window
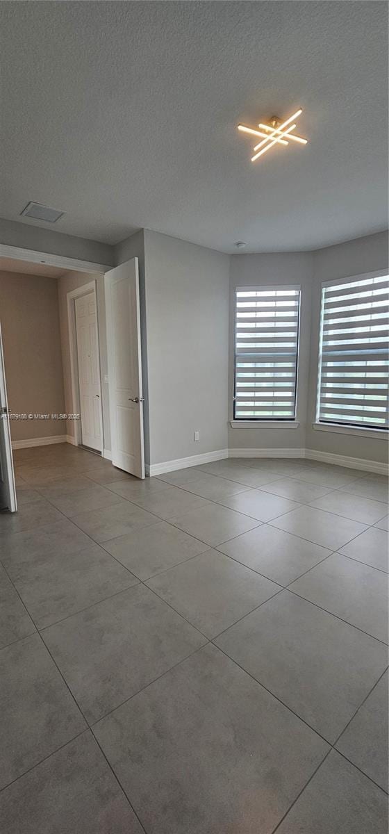
[[[228,445],[232,449],[307,447],[378,461],[386,457],[385,440],[312,430],[312,423],[316,408],[322,281],[387,269],[387,233],[312,253],[240,254],[229,258],[148,230],[141,230],[116,247],[110,247],[0,219],[0,242],[110,265],[135,256],[139,259],[147,463],[227,448],[227,415],[231,420],[233,395],[228,272],[231,334],[236,285],[302,285],[297,406],[300,427],[297,430],[229,428]],[[91,277],[91,274],[72,273],[69,289],[77,285],[74,282],[87,283]],[[102,277],[98,282],[100,349],[102,374],[105,374]],[[65,388],[66,385],[65,379]],[[68,404],[67,410],[72,410]],[[107,449],[111,445],[107,390],[103,392],[103,414]],[[68,433],[69,430],[71,426]],[[193,440],[195,430],[200,431],[199,443]]]

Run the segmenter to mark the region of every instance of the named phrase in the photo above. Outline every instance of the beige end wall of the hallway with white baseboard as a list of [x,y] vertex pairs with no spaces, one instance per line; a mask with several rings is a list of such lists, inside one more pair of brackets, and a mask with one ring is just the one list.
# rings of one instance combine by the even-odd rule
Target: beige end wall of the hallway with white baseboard
[[[0,321],[12,412],[63,414],[57,280],[0,272]],[[11,420],[12,440],[64,434],[64,420]]]

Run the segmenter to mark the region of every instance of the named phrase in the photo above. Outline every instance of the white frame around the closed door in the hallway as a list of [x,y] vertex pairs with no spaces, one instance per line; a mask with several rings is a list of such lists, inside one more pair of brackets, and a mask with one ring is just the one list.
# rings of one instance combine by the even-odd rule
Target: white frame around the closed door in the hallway
[[80,384],[78,375],[78,354],[77,354],[77,325],[76,325],[76,299],[82,298],[83,295],[94,295],[96,304],[96,328],[97,328],[97,357],[98,357],[98,382],[100,386],[100,430],[102,435],[102,457],[104,457],[104,423],[102,420],[102,369],[100,359],[100,342],[98,334],[98,306],[97,306],[97,283],[96,279],[89,281],[87,284],[82,284],[77,289],[71,289],[67,293],[67,328],[69,333],[69,356],[70,356],[70,375],[72,381],[72,409],[73,414],[80,414],[80,420],[74,420],[74,445],[82,445],[82,420],[81,420],[81,402],[80,402]]

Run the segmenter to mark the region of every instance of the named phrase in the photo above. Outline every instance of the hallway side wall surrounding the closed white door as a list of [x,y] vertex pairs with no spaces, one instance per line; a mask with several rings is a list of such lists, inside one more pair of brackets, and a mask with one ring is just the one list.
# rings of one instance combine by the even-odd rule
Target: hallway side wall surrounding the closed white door
[[[63,388],[65,394],[65,409],[67,414],[73,414],[76,410],[76,405],[72,401],[72,374],[70,367],[70,345],[69,345],[69,328],[67,322],[67,293],[72,289],[82,287],[84,284],[90,284],[91,281],[96,280],[97,286],[97,322],[98,322],[98,340],[100,347],[100,372],[102,381],[102,430],[104,449],[111,450],[111,431],[109,423],[109,397],[108,385],[104,381],[107,376],[107,332],[106,332],[106,318],[105,318],[105,295],[104,295],[104,276],[102,274],[92,274],[87,272],[67,272],[58,280],[58,300],[59,300],[59,318],[61,324],[61,344],[62,344],[62,366],[63,366]],[[67,435],[74,437],[75,427],[74,421],[67,422]]]

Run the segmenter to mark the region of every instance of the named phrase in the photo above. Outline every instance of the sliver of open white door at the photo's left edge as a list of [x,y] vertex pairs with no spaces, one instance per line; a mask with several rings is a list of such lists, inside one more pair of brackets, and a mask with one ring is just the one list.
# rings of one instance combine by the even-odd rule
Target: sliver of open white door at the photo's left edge
[[0,325],[0,510],[17,511],[15,475],[13,474],[11,431],[9,429],[7,386],[4,356],[2,354],[2,329]]

